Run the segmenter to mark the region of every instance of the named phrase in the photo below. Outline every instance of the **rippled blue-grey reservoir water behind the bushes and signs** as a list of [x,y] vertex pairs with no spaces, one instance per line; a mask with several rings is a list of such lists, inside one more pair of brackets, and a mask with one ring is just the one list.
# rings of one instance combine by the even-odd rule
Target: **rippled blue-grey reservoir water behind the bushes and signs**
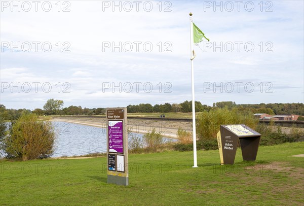
[[[52,157],[79,156],[106,152],[106,129],[54,121],[57,139]],[[131,133],[142,139],[143,134]],[[165,141],[170,139],[164,138]],[[174,140],[173,140],[174,141]]]

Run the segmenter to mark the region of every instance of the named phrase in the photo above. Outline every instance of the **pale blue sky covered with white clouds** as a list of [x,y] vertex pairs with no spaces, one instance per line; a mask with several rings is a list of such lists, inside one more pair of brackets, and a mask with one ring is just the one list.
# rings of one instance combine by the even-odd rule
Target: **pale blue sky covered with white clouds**
[[303,1],[0,1],[1,104],[303,102]]

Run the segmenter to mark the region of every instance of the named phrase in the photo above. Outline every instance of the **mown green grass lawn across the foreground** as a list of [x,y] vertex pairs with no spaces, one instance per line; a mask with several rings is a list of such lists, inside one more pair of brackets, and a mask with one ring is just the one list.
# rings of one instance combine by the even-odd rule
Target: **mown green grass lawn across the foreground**
[[260,147],[219,165],[218,150],[129,155],[129,186],[107,184],[106,158],[0,162],[0,204],[303,205],[304,142]]

